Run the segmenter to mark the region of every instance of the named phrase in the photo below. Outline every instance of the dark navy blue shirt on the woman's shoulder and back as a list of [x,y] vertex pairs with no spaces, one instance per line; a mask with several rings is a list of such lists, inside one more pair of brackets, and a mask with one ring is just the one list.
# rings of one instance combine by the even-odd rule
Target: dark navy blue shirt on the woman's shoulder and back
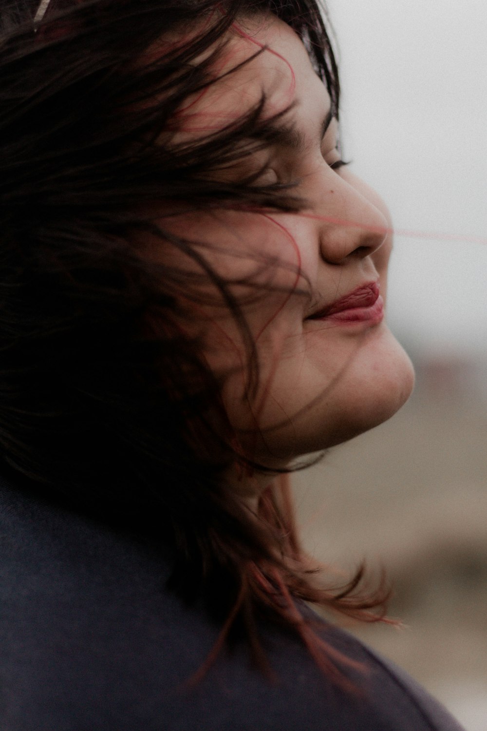
[[321,620],[364,665],[347,671],[361,694],[269,626],[275,683],[242,647],[188,687],[220,628],[166,590],[169,570],[126,535],[0,481],[1,730],[461,731],[411,678]]

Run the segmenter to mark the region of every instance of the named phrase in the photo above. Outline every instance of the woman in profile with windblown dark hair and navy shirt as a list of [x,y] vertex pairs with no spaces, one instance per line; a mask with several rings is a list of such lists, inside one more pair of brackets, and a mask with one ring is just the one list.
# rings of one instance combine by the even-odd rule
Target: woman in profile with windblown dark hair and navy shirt
[[413,384],[314,0],[2,14],[2,727],[458,728],[304,604],[382,616],[285,475]]

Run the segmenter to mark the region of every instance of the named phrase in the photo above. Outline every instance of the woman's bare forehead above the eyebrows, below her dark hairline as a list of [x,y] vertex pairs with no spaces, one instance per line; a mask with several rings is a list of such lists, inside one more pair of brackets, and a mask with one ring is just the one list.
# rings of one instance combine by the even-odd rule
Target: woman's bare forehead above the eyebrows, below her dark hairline
[[189,97],[178,112],[180,135],[216,132],[256,107],[263,96],[264,118],[291,104],[304,107],[311,118],[329,109],[328,91],[302,40],[275,15],[239,19],[224,42],[212,69],[215,83]]

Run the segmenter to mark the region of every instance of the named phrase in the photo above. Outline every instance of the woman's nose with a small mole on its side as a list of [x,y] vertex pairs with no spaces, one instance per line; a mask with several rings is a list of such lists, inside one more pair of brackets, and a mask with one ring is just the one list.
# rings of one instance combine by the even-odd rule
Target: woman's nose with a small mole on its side
[[322,183],[316,211],[323,260],[345,264],[375,254],[390,232],[380,197],[349,170],[337,175],[328,168]]

